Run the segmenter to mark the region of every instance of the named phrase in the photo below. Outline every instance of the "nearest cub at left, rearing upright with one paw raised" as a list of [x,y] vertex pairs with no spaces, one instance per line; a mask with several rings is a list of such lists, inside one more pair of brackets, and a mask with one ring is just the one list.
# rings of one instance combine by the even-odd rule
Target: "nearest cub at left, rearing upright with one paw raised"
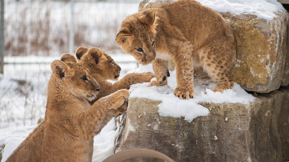
[[[69,57],[69,56],[66,56]],[[99,84],[71,55],[71,62],[55,60],[47,87],[42,161],[87,161],[90,141],[102,117],[128,98],[126,89],[100,98],[92,106]],[[73,61],[72,61],[73,60]]]

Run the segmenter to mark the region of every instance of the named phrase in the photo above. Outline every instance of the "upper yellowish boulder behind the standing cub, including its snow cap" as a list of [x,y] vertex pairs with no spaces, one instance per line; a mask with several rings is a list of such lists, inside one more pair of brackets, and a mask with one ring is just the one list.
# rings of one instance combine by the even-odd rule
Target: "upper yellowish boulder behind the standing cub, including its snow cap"
[[[288,13],[274,1],[197,0],[218,11],[237,41],[233,80],[247,91],[267,93],[289,84]],[[171,0],[143,0],[139,11]]]

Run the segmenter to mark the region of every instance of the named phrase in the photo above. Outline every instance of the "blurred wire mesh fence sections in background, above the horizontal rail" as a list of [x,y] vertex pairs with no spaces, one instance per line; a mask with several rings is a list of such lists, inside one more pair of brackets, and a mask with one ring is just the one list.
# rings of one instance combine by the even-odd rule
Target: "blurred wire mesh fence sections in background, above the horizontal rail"
[[[75,1],[74,46],[119,51],[115,34],[139,2]],[[69,52],[69,1],[5,0],[5,56],[55,56]]]

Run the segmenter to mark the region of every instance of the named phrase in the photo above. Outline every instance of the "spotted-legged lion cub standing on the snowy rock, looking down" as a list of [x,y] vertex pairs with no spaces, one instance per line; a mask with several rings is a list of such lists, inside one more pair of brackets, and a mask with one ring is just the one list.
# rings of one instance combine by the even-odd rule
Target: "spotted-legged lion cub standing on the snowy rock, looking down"
[[139,63],[153,63],[157,81],[167,84],[168,60],[176,66],[175,96],[193,98],[193,66],[201,66],[216,82],[214,92],[233,87],[230,73],[236,42],[229,23],[209,7],[179,0],[127,16],[116,36],[122,50]]

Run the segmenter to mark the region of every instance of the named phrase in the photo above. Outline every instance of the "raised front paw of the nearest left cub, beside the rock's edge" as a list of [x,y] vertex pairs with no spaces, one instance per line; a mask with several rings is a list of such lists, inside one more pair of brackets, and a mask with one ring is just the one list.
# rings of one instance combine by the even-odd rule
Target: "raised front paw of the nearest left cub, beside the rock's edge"
[[125,101],[127,101],[129,97],[129,92],[127,89],[121,89],[117,92],[111,94],[111,98],[113,98],[113,103],[111,105],[112,109],[118,109]]

